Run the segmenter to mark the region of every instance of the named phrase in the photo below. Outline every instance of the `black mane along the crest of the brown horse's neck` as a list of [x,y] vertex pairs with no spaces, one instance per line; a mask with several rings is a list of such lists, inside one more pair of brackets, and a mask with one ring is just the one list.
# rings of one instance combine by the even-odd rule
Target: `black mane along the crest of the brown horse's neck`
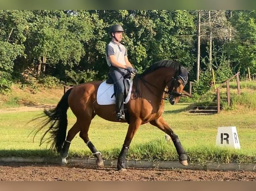
[[142,72],[141,74],[137,74],[133,79],[134,97],[140,96],[140,92],[138,88],[138,80],[146,76],[147,74],[150,74],[151,72],[163,67],[171,67],[171,68],[174,68],[175,71],[179,71],[180,64],[172,60],[161,60],[161,61],[155,62],[154,64],[146,68],[144,72]]

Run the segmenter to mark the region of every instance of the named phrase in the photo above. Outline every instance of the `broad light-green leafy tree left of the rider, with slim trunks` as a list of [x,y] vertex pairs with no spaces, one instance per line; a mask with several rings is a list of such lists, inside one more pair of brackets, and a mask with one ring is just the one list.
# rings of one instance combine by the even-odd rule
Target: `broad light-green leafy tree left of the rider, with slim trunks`
[[79,64],[85,55],[83,42],[92,36],[89,15],[61,10],[32,11],[32,27],[26,42],[28,59],[37,65],[40,74],[45,64]]

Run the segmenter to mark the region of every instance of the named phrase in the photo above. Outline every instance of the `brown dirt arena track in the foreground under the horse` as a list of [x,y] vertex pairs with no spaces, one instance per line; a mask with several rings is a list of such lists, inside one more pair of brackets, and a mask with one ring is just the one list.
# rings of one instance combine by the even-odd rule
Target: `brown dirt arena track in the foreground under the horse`
[[251,171],[127,168],[45,163],[0,163],[1,181],[255,181]]

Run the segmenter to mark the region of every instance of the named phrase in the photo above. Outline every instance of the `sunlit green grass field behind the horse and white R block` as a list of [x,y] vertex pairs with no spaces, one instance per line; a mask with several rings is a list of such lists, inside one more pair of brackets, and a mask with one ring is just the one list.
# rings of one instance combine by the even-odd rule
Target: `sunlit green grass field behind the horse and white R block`
[[[190,162],[256,162],[255,111],[223,111],[215,115],[191,115],[186,112],[188,103],[166,104],[163,117],[179,136]],[[41,111],[0,113],[0,156],[57,156],[48,152],[46,144],[39,147],[40,131],[33,142],[29,133],[35,122],[26,124]],[[68,129],[75,123],[68,110]],[[215,146],[218,126],[236,126],[241,149],[224,149]],[[122,147],[128,124],[94,118],[89,137],[105,159],[117,158]],[[164,140],[164,132],[150,124],[141,125],[135,134],[127,159],[177,160],[172,142]],[[93,157],[89,148],[77,134],[72,141],[69,156]]]

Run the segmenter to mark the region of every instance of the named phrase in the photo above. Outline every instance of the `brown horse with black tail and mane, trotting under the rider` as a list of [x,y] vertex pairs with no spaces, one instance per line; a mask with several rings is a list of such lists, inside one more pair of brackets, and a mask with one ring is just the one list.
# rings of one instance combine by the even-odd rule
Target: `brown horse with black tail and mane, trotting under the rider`
[[[47,119],[37,132],[47,124],[50,124],[50,127],[43,134],[40,144],[45,141],[44,136],[49,132],[50,137],[46,140],[48,140],[48,143],[52,142],[50,149],[60,153],[62,163],[67,164],[66,158],[70,143],[75,135],[80,132],[80,137],[90,148],[93,155],[97,157],[97,165],[103,166],[101,153],[94,147],[88,137],[92,119],[95,115],[98,115],[109,121],[126,122],[129,127],[117,163],[117,169],[124,170],[126,153],[133,136],[141,124],[149,122],[171,137],[179,156],[179,162],[188,165],[187,155],[178,136],[162,118],[164,93],[168,94],[168,100],[171,104],[177,103],[187,80],[188,70],[181,67],[179,63],[170,60],[154,63],[143,73],[134,77],[131,96],[125,105],[127,120],[123,121],[116,121],[114,104],[100,105],[97,102],[97,91],[102,81],[93,81],[75,86],[62,96],[54,109],[44,110],[43,115],[47,116]],[[168,92],[165,89],[168,89]],[[69,107],[75,114],[77,121],[68,131],[66,137],[67,110]]]

